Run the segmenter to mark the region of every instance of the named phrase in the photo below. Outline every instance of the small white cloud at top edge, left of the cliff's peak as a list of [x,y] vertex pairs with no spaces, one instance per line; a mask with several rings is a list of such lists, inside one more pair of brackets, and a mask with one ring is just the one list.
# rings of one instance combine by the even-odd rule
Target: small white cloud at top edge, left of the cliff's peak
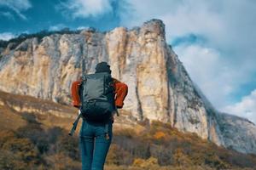
[[61,9],[73,18],[97,17],[113,11],[112,0],[68,0]]

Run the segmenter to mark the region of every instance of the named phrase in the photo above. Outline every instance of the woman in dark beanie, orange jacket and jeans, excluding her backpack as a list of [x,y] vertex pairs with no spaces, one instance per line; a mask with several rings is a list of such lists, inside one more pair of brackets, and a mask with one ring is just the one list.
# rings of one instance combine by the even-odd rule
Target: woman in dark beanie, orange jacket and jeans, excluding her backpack
[[[110,65],[107,62],[101,62],[96,65],[96,73],[108,72],[111,74]],[[73,106],[81,105],[79,99],[79,85],[81,80],[73,82],[72,96]],[[119,82],[113,78],[114,105],[120,109],[124,105],[124,99],[128,92],[128,87],[124,82]],[[82,127],[79,133],[79,146],[82,159],[83,170],[102,170],[108,154],[108,149],[112,141],[113,116],[106,123],[90,122],[83,118]],[[106,129],[107,127],[107,129]],[[108,131],[108,136],[106,136]]]

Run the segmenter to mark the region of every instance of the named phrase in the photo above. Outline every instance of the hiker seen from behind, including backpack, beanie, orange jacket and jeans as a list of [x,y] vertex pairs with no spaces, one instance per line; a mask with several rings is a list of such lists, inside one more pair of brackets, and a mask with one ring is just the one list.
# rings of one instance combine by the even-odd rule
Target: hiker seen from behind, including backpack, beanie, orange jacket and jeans
[[113,138],[113,115],[123,107],[128,87],[111,77],[110,65],[101,62],[94,74],[73,82],[71,90],[73,106],[83,118],[79,132],[82,170],[102,170]]

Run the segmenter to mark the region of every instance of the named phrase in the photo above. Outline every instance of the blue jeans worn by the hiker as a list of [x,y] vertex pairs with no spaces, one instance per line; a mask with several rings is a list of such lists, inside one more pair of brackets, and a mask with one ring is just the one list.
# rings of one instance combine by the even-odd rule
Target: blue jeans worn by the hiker
[[108,127],[105,125],[83,120],[79,133],[82,170],[103,170],[112,141],[112,122],[108,122]]

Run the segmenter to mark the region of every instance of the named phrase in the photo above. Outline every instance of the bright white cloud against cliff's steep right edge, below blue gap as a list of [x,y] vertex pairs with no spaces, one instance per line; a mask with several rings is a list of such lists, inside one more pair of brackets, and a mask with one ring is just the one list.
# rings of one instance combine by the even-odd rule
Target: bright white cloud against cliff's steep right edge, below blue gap
[[228,95],[236,88],[240,74],[232,73],[216,49],[199,44],[180,45],[174,48],[192,80],[214,105],[229,104]]

